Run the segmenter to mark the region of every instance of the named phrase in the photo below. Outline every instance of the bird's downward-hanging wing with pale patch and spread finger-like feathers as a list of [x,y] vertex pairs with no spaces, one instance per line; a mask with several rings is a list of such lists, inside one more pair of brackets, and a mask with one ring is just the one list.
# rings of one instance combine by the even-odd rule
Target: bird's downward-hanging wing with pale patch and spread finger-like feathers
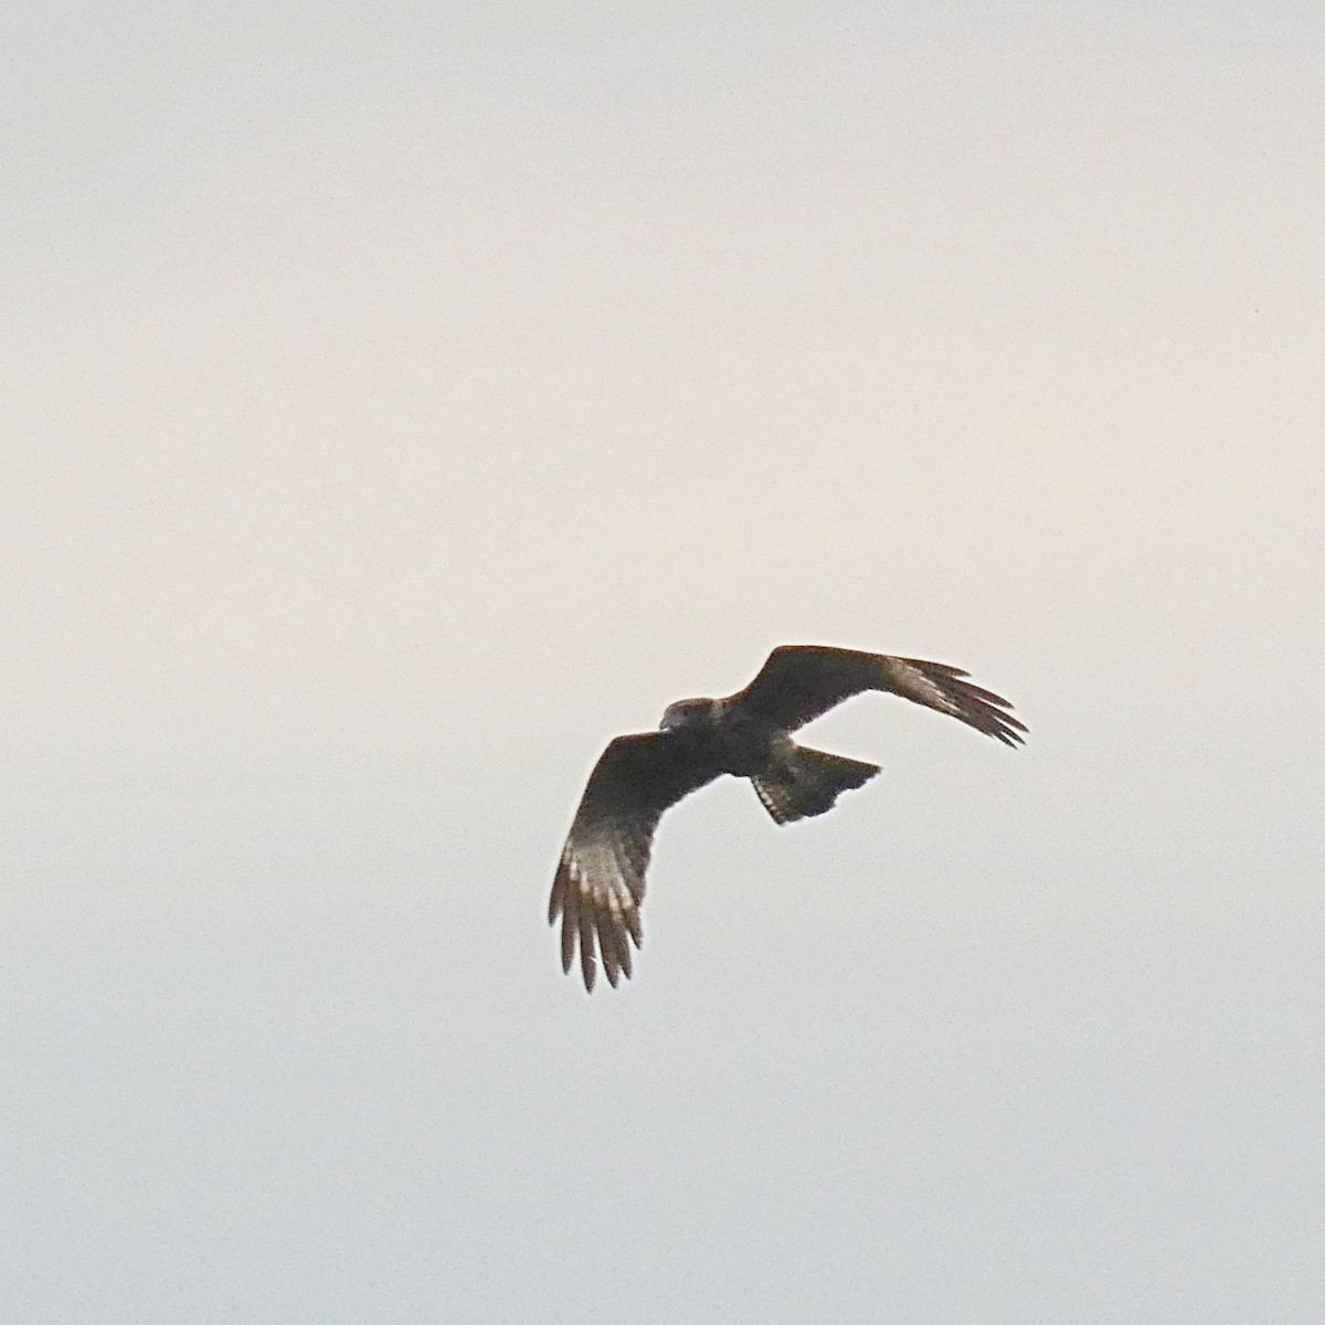
[[631,974],[640,946],[640,904],[653,831],[668,806],[713,782],[722,770],[702,745],[678,733],[617,737],[590,774],[562,849],[547,922],[562,917],[562,969],[579,943],[584,988],[594,988],[595,942],[608,980]]

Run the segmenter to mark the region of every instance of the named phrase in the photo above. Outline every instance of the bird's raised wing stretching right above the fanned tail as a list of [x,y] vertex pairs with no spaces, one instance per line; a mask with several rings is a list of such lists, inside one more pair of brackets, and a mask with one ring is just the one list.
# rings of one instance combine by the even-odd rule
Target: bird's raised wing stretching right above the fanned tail
[[861,690],[889,690],[904,700],[951,714],[1004,745],[1020,745],[1024,723],[1007,700],[966,680],[943,662],[894,659],[816,644],[783,644],[768,655],[759,674],[726,702],[795,731]]

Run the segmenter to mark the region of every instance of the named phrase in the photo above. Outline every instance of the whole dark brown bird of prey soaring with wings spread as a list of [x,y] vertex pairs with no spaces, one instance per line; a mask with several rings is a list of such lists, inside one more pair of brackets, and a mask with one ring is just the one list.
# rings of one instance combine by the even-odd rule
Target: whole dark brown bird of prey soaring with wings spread
[[749,778],[779,824],[831,810],[843,791],[878,765],[796,745],[791,733],[864,690],[886,690],[959,718],[1016,746],[1026,726],[1007,700],[982,690],[943,662],[860,653],[815,644],[783,644],[759,674],[725,700],[678,700],[657,731],[608,742],[571,823],[553,881],[547,921],[562,920],[562,969],[579,947],[584,987],[598,961],[611,984],[631,974],[640,946],[640,904],[653,831],[662,811],[716,778]]

